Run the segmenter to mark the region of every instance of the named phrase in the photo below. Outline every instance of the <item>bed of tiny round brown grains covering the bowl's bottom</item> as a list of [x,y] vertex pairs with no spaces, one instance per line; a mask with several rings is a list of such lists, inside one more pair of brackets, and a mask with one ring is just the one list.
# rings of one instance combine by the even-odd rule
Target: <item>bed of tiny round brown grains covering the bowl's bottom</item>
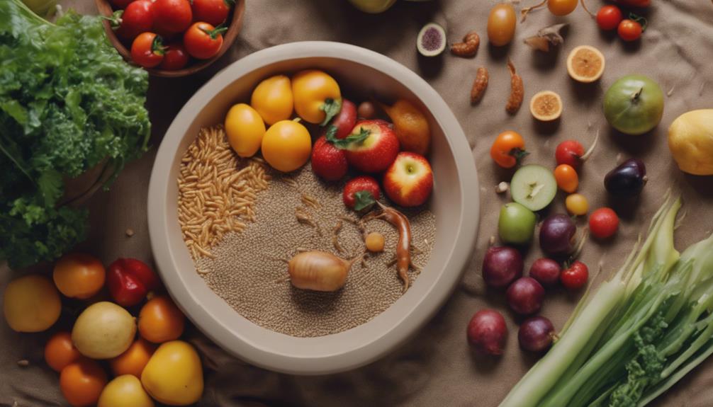
[[[299,290],[284,281],[287,264],[300,249],[324,250],[342,258],[364,251],[361,231],[343,217],[356,219],[342,203],[342,186],[319,181],[309,164],[296,174],[272,174],[270,187],[257,194],[255,222],[242,232],[228,232],[212,248],[214,257],[196,259],[209,287],[250,321],[294,337],[318,337],[356,327],[380,314],[401,296],[394,257],[398,233],[381,220],[366,231],[386,238],[384,253],[355,263],[347,283],[337,292]],[[435,216],[427,210],[406,212],[415,246],[413,262],[423,267],[436,234]],[[332,231],[342,221],[339,253]],[[417,273],[411,270],[411,280]],[[282,280],[282,282],[277,282]]]

